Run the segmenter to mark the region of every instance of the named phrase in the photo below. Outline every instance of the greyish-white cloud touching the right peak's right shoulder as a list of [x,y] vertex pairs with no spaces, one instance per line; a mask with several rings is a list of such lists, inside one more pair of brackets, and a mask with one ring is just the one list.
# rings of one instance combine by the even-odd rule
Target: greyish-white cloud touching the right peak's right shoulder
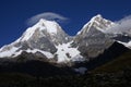
[[131,15],[123,17],[122,20],[115,22],[115,26],[109,28],[106,33],[111,34],[131,34]]

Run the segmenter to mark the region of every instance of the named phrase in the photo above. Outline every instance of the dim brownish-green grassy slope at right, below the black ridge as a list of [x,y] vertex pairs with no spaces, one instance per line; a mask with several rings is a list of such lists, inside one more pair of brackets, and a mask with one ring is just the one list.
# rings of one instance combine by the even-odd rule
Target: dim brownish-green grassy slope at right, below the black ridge
[[117,59],[93,70],[93,73],[116,73],[131,67],[131,51],[121,54]]

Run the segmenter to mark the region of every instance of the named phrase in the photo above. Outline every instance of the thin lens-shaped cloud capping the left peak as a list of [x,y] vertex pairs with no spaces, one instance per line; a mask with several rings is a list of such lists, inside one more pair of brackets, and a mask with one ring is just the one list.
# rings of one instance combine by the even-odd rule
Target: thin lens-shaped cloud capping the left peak
[[45,20],[48,20],[48,21],[56,21],[58,23],[67,23],[69,21],[68,17],[64,17],[60,14],[52,13],[52,12],[44,12],[44,13],[37,14],[37,15],[28,18],[27,20],[27,25],[34,25],[40,18],[45,18]]

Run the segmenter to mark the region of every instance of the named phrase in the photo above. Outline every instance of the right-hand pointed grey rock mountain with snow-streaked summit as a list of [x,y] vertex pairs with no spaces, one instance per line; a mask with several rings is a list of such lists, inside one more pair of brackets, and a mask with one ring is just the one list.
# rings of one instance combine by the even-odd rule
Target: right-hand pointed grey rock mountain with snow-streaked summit
[[111,21],[105,20],[98,14],[78,33],[74,44],[86,58],[96,58],[114,44],[114,39],[104,33],[112,25]]

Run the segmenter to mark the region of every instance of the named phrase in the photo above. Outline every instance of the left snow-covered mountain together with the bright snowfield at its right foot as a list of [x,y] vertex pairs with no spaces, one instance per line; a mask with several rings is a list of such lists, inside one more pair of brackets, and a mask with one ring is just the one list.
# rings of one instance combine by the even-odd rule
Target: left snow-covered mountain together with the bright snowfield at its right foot
[[[71,48],[72,37],[68,36],[55,21],[40,20],[14,42],[0,49],[0,58],[44,58],[51,62],[83,60],[76,48]],[[32,53],[32,54],[28,54]]]

